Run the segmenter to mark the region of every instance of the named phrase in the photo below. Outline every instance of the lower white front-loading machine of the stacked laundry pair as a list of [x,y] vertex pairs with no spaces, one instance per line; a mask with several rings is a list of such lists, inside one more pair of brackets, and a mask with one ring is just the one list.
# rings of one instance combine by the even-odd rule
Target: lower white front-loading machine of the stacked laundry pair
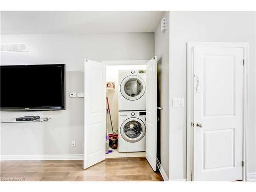
[[146,111],[120,111],[118,152],[144,152]]

